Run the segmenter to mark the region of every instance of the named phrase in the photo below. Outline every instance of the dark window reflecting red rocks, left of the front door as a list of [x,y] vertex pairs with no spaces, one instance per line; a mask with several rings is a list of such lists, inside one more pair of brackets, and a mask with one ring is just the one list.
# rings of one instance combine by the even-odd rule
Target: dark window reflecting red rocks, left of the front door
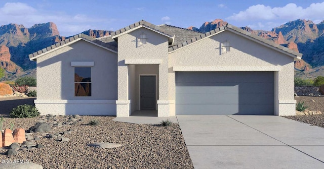
[[91,67],[74,67],[74,96],[91,96]]

